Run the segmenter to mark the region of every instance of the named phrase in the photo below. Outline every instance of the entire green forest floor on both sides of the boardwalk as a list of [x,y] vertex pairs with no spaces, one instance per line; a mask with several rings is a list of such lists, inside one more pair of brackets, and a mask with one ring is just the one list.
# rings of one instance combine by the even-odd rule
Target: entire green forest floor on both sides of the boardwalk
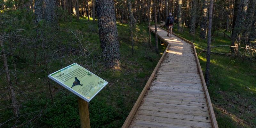
[[[86,17],[81,17],[80,21],[76,21],[74,18],[71,23],[60,24],[60,26],[74,31],[79,30],[83,34],[83,45],[86,46],[90,43],[91,45],[88,45],[87,49],[94,49],[91,54],[98,55],[101,53],[98,25],[97,23],[92,23],[92,19],[88,22]],[[197,53],[206,48],[206,40],[198,38],[198,29],[198,34],[191,36],[188,33],[188,28],[185,28],[183,33],[178,33],[176,28],[177,26],[175,25],[174,32],[176,34],[195,43]],[[150,49],[148,47],[148,25],[137,24],[136,30],[134,30],[135,46],[134,55],[132,56],[129,25],[117,22],[117,29],[121,52],[121,68],[118,70],[100,69],[103,66],[99,64],[94,70],[96,75],[108,81],[109,84],[89,104],[92,128],[120,128],[123,125],[166,48],[165,45],[160,44],[160,41],[158,41],[160,53],[156,54],[154,49],[155,37],[153,34],[151,34],[153,48]],[[65,42],[62,39],[60,41]],[[212,45],[229,44],[230,40],[221,34],[215,36],[215,41],[212,42]],[[227,53],[229,48],[216,47],[212,51]],[[65,59],[68,62],[68,60],[74,60],[74,57]],[[199,56],[199,60],[204,72],[205,52]],[[73,62],[77,61],[64,63],[63,67]],[[79,61],[77,63],[83,62]],[[51,73],[61,68],[57,60],[50,62],[50,64]],[[17,70],[24,72],[25,68]],[[255,127],[255,61],[245,60],[242,63],[241,58],[211,54],[210,71],[211,84],[208,90],[219,127]],[[28,73],[26,76],[18,76],[21,82],[15,88],[20,105],[20,122],[11,119],[13,117],[12,107],[10,106],[11,102],[4,98],[4,95],[7,95],[8,92],[6,92],[4,82],[0,81],[0,122],[3,123],[11,119],[11,121],[3,125],[4,127],[11,127],[15,123],[21,124],[26,122],[38,113],[40,114],[41,109],[43,111],[40,118],[29,123],[28,127],[80,127],[76,95],[51,80],[53,96],[53,101],[51,101],[47,82],[48,75],[47,72],[43,71]]]

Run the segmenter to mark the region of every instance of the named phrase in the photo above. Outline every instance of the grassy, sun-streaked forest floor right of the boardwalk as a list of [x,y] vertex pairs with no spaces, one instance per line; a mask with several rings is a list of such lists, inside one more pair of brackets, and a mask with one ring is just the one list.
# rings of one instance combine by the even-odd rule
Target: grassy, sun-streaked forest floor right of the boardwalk
[[[182,36],[195,44],[197,54],[207,47],[207,40],[199,39],[200,30],[196,29],[196,35],[177,32],[178,26],[174,26],[174,33]],[[230,33],[227,33],[230,35]],[[215,31],[212,46],[230,45],[230,39],[221,32]],[[228,53],[229,47],[214,47],[212,52]],[[244,51],[243,51],[244,52]],[[241,52],[241,53],[243,53]],[[202,52],[198,58],[205,73],[206,52]],[[211,54],[210,86],[208,90],[212,100],[215,116],[220,128],[244,128],[256,127],[256,63],[242,58],[225,55]]]

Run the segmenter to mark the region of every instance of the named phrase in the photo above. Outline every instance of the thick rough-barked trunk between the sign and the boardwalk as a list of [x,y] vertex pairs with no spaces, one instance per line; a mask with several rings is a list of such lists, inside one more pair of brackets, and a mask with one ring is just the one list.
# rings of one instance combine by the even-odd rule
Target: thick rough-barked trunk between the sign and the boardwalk
[[113,0],[96,0],[100,47],[108,68],[120,68],[120,52],[117,39],[116,17]]

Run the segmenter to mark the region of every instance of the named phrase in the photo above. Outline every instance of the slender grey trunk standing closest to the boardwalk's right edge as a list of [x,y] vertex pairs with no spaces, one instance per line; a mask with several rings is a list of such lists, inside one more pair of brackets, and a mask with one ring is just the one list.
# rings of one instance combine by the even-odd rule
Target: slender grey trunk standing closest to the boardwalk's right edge
[[210,0],[210,7],[209,7],[209,25],[208,25],[208,38],[207,38],[207,52],[206,52],[206,68],[205,68],[205,82],[206,85],[209,86],[210,84],[210,55],[211,55],[211,31],[212,31],[212,8],[213,8],[213,1]]

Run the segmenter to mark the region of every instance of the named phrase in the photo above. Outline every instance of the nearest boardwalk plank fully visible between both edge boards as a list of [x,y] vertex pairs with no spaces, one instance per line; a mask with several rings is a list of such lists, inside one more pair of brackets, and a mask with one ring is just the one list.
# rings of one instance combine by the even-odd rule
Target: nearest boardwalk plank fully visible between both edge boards
[[146,115],[139,115],[139,114],[135,115],[135,119],[151,121],[151,122],[166,123],[166,124],[177,124],[177,125],[183,125],[183,126],[200,127],[200,128],[211,128],[212,127],[212,124],[208,123],[208,122],[190,121],[190,120],[156,117],[156,116],[146,116]]

